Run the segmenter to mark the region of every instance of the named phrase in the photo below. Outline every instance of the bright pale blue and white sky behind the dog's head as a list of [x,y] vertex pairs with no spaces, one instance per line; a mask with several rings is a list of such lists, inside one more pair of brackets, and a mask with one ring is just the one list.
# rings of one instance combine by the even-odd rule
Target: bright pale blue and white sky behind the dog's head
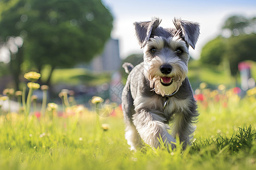
[[164,28],[174,27],[172,24],[174,17],[199,22],[201,34],[196,49],[190,49],[191,55],[199,58],[201,48],[220,34],[222,24],[229,16],[256,17],[255,0],[102,0],[102,2],[114,16],[112,37],[119,39],[121,58],[133,53],[142,53],[134,36],[134,22],[151,20],[154,16],[162,19],[160,26]]

